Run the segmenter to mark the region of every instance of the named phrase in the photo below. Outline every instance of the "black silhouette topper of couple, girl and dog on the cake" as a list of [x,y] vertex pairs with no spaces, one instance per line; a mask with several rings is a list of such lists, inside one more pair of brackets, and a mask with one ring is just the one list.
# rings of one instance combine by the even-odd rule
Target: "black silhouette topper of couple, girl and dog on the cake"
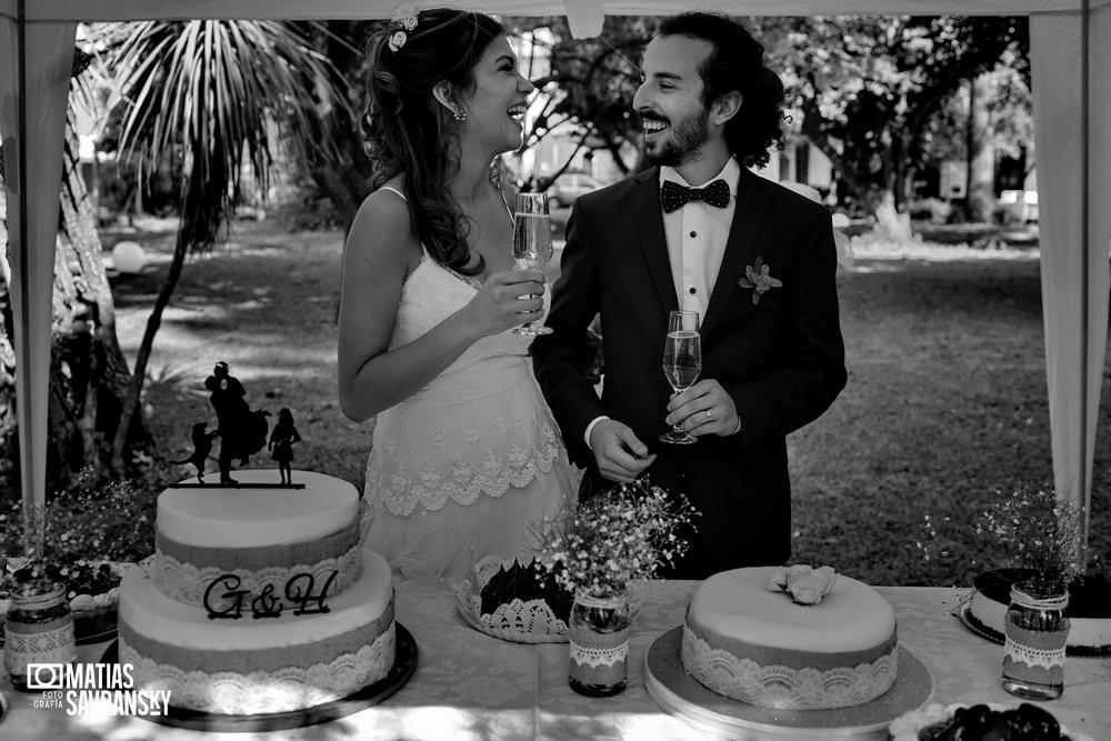
[[[278,462],[281,487],[296,489],[304,484],[292,482],[293,444],[301,441],[301,435],[293,427],[293,414],[283,408],[278,415],[278,424],[270,435],[267,435],[270,423],[266,409],[251,409],[247,402],[247,390],[239,379],[231,374],[228,363],[219,361],[212,368],[212,374],[204,379],[204,388],[209,391],[209,402],[216,412],[217,425],[211,432],[206,422],[196,422],[192,427],[193,452],[172,463],[192,464],[197,469],[197,483],[180,483],[179,487],[268,487],[276,484],[240,483],[232,478],[232,468],[238,461],[240,467],[250,462],[251,455],[268,448],[271,459]],[[213,439],[220,439],[217,461],[220,468],[220,483],[204,481],[204,465],[212,453]]]

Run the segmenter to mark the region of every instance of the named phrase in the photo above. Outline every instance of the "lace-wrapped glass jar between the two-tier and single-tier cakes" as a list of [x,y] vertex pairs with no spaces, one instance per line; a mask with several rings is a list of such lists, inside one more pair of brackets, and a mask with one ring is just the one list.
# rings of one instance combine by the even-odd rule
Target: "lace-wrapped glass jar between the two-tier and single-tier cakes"
[[568,683],[580,694],[608,698],[624,691],[629,675],[629,593],[593,597],[578,590],[571,605]]

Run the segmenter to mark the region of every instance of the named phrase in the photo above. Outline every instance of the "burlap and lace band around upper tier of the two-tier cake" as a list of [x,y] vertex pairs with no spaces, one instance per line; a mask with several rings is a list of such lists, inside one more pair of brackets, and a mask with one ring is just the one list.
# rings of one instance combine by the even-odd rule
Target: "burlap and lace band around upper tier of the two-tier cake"
[[258,593],[267,585],[281,590],[297,574],[323,582],[336,571],[330,591],[339,594],[362,575],[359,538],[358,521],[319,540],[253,548],[190,545],[158,533],[154,583],[178,602],[201,607],[208,585],[224,574],[234,574],[240,589]]

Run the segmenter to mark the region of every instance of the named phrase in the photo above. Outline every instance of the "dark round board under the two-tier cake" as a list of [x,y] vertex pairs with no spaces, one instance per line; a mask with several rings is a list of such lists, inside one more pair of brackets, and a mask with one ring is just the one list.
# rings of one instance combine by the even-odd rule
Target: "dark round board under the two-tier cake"
[[[118,641],[112,641],[108,645],[101,661],[104,663],[117,663],[119,661]],[[142,718],[160,725],[212,732],[251,733],[317,725],[379,704],[404,687],[416,671],[417,641],[413,639],[412,633],[399,622],[397,623],[397,653],[393,659],[393,667],[390,668],[389,673],[378,682],[364,687],[346,698],[302,710],[259,713],[256,715],[209,713],[188,708],[178,708],[171,703],[164,715],[142,715]]]

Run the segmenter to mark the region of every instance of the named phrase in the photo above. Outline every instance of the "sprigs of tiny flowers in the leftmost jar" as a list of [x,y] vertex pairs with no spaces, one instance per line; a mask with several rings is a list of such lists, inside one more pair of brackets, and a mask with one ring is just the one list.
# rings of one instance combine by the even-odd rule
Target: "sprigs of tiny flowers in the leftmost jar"
[[[73,485],[54,493],[47,505],[31,513],[43,523],[41,551],[7,558],[0,573],[0,617],[13,592],[49,591],[63,583],[71,607],[93,610],[109,607],[110,592],[124,567],[153,552],[154,498],[129,481],[97,485],[91,469],[82,470]],[[19,500],[0,508],[0,555],[22,551],[23,514]]]

